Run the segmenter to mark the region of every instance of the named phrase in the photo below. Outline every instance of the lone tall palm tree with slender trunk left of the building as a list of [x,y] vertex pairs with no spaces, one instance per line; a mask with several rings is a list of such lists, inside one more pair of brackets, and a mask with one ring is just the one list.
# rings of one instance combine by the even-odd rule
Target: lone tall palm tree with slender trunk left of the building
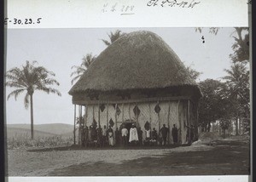
[[30,111],[31,111],[31,137],[34,138],[33,133],[33,94],[35,90],[42,90],[47,94],[57,94],[61,96],[61,93],[55,89],[51,88],[51,85],[59,86],[60,83],[57,82],[54,78],[55,73],[52,71],[48,71],[43,66],[36,66],[37,61],[32,61],[32,64],[27,60],[26,65],[22,65],[21,68],[15,67],[6,72],[7,82],[6,86],[11,88],[16,88],[8,95],[8,100],[11,96],[17,97],[19,94],[26,91],[26,95],[24,98],[24,105],[27,109],[30,103]]

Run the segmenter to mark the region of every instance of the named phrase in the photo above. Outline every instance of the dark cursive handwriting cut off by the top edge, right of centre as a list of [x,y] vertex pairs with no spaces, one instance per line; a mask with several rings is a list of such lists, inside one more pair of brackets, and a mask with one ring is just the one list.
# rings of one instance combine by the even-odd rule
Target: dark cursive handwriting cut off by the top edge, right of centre
[[190,8],[193,9],[195,5],[201,2],[193,1],[177,1],[177,0],[149,0],[147,6],[154,7],[154,6],[161,6],[161,7],[178,7],[178,8]]

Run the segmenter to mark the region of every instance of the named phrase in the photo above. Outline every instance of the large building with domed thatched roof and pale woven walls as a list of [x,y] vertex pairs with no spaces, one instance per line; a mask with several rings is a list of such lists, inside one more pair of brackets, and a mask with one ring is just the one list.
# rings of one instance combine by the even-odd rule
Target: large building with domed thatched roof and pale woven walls
[[[183,132],[180,142],[184,143],[186,126],[192,120],[196,126],[201,89],[161,37],[150,31],[135,31],[103,50],[69,94],[73,96],[73,104],[87,108],[86,123],[97,120],[100,124],[103,120],[108,125],[111,118],[116,128],[134,120],[143,128],[150,121],[150,126],[155,125],[158,131],[160,123],[166,122],[169,127],[177,123]],[[110,107],[104,109],[108,104],[113,105],[113,111]],[[154,110],[156,105],[160,105],[162,115]],[[135,106],[144,112],[132,113]]]

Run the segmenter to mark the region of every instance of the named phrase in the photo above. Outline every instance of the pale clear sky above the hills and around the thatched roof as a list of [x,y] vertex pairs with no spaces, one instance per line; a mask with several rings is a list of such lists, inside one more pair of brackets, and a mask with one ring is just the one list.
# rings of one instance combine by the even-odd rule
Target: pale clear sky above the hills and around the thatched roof
[[[190,65],[202,72],[199,81],[207,78],[220,79],[225,76],[224,69],[231,65],[229,55],[233,53],[234,28],[221,28],[218,35],[201,33],[195,28],[118,28],[122,32],[153,31],[176,52],[184,65]],[[108,40],[110,31],[117,28],[83,29],[9,29],[7,33],[6,70],[25,65],[26,60],[37,60],[49,71],[55,72],[60,82],[57,88],[61,97],[35,91],[33,95],[34,124],[67,123],[73,124],[72,97],[68,94],[72,87],[70,77],[73,65],[80,65],[84,55],[100,54],[107,46],[102,39]],[[205,43],[201,37],[204,36]],[[13,88],[6,88],[8,95]],[[17,100],[6,101],[6,123],[30,124],[30,110],[24,106],[24,94]]]

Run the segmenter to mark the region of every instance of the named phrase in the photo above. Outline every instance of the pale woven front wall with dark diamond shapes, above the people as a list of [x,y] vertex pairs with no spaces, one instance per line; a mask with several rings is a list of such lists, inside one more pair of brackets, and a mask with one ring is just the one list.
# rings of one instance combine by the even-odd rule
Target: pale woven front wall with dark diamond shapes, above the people
[[[169,104],[170,103],[170,104]],[[187,134],[187,128],[185,125],[188,125],[187,122],[187,101],[180,101],[178,106],[178,101],[163,101],[160,102],[160,114],[158,117],[158,114],[154,111],[154,107],[157,105],[156,102],[150,102],[150,103],[138,103],[137,106],[140,110],[140,115],[138,117],[138,127],[141,127],[143,130],[143,139],[145,139],[145,128],[144,125],[148,121],[150,123],[151,130],[153,128],[156,129],[157,134],[159,134],[159,129],[162,128],[163,124],[166,124],[166,127],[169,127],[170,134],[169,134],[169,143],[172,144],[172,128],[173,124],[176,124],[178,129],[181,129],[181,133],[178,132],[178,139],[181,140],[181,143],[186,143],[186,134]],[[170,111],[169,111],[169,105],[170,105]],[[121,111],[119,116],[117,117],[117,127],[119,128],[122,124],[122,122],[127,121],[130,119],[129,116],[129,104],[124,104],[124,110],[122,107],[122,104],[119,104],[119,110]],[[136,117],[134,114],[134,107],[136,104],[130,104],[130,114],[131,114],[131,120],[136,122]],[[108,107],[108,108],[107,108]],[[90,126],[93,121],[93,105],[87,106],[87,126]],[[94,118],[98,124],[98,105],[94,106]],[[107,111],[108,111],[108,124],[107,124]],[[195,114],[193,113],[193,106],[190,107],[190,119],[191,123],[195,123]],[[168,113],[169,115],[169,121],[168,121]],[[85,111],[84,113],[85,114]],[[159,128],[159,118],[160,118],[160,128]],[[112,119],[114,122],[113,130],[116,129],[116,120],[115,120],[115,108],[113,105],[105,105],[104,111],[100,111],[100,122],[101,126],[103,128],[104,125],[107,127],[109,126],[109,120]],[[193,122],[192,122],[193,121]]]

